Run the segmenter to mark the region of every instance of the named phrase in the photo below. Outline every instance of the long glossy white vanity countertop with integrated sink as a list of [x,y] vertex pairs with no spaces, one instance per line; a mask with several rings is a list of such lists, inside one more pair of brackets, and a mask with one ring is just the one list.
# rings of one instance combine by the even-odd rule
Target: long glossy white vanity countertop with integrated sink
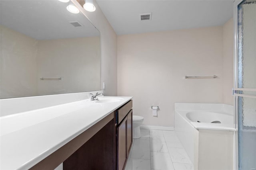
[[31,168],[132,99],[114,98],[122,100],[81,100],[0,117],[0,169]]

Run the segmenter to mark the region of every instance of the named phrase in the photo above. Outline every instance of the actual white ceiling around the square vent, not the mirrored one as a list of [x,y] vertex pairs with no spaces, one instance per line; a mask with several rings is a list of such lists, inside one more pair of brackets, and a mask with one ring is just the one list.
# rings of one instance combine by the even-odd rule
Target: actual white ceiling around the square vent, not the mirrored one
[[[224,25],[233,0],[97,0],[118,35]],[[152,12],[151,21],[139,13]]]

